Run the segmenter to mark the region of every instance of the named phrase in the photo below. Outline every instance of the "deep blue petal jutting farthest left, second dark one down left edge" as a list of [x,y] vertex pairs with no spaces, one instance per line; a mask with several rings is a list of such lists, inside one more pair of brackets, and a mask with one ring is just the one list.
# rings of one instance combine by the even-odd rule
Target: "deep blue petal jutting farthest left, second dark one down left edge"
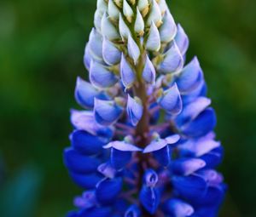
[[96,172],[100,160],[96,157],[87,157],[79,153],[73,148],[67,148],[64,151],[64,163],[68,170],[76,173],[92,173]]

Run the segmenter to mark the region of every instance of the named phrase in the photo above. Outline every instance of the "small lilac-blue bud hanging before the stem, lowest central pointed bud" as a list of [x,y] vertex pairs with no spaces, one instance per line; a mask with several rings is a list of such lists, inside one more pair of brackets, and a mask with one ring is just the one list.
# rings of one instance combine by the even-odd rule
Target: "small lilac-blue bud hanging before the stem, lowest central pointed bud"
[[137,123],[139,123],[143,117],[143,105],[141,100],[138,98],[133,99],[129,94],[127,102],[127,114],[133,126],[137,126]]

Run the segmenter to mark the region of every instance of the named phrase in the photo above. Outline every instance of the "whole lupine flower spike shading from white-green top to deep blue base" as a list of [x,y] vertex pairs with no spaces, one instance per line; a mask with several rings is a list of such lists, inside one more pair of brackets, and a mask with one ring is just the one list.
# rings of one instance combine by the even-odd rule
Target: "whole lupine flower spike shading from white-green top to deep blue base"
[[98,0],[64,163],[83,189],[69,217],[214,217],[215,112],[199,60],[165,0]]

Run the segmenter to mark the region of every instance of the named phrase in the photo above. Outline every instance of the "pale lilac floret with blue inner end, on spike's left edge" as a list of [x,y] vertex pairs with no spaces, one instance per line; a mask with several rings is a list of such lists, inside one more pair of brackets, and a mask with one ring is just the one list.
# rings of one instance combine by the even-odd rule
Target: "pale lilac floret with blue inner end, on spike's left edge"
[[106,143],[113,137],[113,130],[111,128],[106,128],[96,123],[92,111],[72,110],[71,123],[77,129],[99,136]]

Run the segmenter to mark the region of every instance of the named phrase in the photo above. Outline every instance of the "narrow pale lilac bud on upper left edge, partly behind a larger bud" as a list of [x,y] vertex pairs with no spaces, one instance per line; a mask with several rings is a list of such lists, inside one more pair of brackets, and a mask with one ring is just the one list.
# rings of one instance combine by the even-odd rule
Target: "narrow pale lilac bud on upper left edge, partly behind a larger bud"
[[102,35],[95,28],[90,31],[89,46],[94,58],[102,60]]

